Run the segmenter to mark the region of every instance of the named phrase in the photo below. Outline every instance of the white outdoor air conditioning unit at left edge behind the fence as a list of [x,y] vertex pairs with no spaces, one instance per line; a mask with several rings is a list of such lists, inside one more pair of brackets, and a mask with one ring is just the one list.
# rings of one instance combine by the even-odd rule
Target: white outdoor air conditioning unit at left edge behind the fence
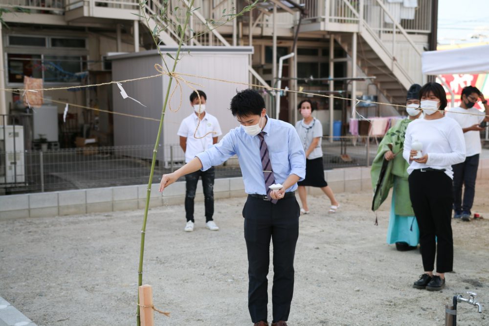
[[0,184],[25,182],[24,130],[0,126]]

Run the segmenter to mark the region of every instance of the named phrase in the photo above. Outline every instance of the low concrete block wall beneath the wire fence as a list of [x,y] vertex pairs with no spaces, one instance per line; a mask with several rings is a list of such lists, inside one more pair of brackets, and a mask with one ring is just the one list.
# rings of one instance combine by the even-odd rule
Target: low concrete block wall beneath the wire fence
[[[324,172],[334,193],[371,190],[370,168],[356,167]],[[478,180],[489,179],[489,158],[480,160]],[[185,182],[176,182],[163,195],[159,184],[151,187],[150,207],[182,204],[185,200]],[[0,196],[0,219],[22,217],[49,217],[87,213],[102,213],[143,209],[147,185],[93,188],[83,190]],[[311,195],[320,195],[319,188],[308,187]],[[215,199],[245,196],[243,178],[216,179]],[[202,184],[197,186],[196,201],[203,201]]]

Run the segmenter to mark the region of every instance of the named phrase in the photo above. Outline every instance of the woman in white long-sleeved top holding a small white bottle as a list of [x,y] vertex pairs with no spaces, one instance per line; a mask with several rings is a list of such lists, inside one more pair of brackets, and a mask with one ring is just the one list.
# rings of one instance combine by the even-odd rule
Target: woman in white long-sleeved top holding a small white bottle
[[[420,227],[424,268],[413,287],[441,290],[445,286],[445,272],[452,271],[453,267],[451,166],[465,160],[465,140],[460,125],[442,113],[446,95],[440,84],[424,85],[420,100],[424,119],[409,124],[402,152],[409,162],[409,195]],[[416,158],[418,151],[414,149],[419,148],[419,143],[422,144],[421,157]],[[433,274],[435,254],[437,275]]]

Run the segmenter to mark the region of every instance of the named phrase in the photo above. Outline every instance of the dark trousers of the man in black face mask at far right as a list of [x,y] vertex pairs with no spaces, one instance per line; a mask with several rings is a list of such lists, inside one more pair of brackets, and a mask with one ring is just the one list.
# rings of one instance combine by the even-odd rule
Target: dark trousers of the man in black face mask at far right
[[[474,203],[475,179],[479,167],[479,154],[467,156],[465,161],[452,165],[453,169],[453,210],[455,213],[470,214]],[[464,201],[462,202],[462,186]]]

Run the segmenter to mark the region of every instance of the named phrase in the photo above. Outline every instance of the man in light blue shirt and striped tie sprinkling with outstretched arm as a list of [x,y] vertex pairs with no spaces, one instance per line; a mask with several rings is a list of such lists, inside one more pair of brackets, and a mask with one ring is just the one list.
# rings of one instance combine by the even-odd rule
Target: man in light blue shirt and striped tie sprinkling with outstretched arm
[[[236,154],[248,194],[243,208],[248,253],[248,310],[255,326],[267,326],[267,274],[273,241],[272,326],[287,326],[294,287],[294,255],[300,207],[294,191],[306,175],[306,155],[295,128],[266,114],[262,96],[238,92],[231,112],[241,127],[172,174],[161,178],[160,191],[185,174],[205,171]],[[280,184],[278,190],[269,186]]]

